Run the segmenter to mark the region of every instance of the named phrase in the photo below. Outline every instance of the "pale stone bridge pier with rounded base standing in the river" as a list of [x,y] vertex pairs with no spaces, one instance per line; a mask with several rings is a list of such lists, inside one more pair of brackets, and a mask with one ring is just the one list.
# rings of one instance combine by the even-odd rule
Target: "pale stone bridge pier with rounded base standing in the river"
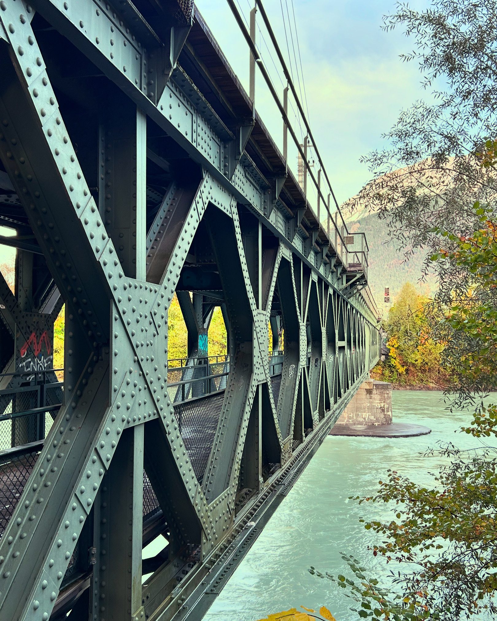
[[431,433],[423,425],[394,423],[392,388],[388,382],[367,379],[332,427],[330,435],[407,438]]

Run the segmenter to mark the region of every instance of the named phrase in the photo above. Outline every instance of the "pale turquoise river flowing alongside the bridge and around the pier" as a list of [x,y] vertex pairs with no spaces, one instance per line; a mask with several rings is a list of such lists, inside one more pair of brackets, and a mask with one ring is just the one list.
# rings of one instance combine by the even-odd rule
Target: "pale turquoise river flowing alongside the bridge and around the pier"
[[[493,395],[488,401],[496,400]],[[393,419],[426,425],[432,433],[417,438],[326,438],[204,621],[254,621],[290,607],[316,609],[323,604],[337,621],[358,619],[344,590],[308,572],[313,565],[347,574],[340,552],[360,558],[377,578],[396,569],[367,550],[381,538],[358,521],[388,519],[386,505],[358,505],[349,496],[375,492],[387,468],[431,484],[428,471],[442,460],[421,453],[437,442],[454,442],[460,448],[479,444],[465,433],[454,433],[470,422],[470,412],[449,412],[440,392],[394,391]]]

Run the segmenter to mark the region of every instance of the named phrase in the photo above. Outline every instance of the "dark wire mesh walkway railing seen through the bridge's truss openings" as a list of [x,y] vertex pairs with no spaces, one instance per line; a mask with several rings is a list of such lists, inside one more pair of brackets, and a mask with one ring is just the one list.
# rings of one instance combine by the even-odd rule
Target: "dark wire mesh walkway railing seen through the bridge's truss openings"
[[[282,350],[275,350],[269,356],[276,402],[283,355]],[[170,363],[175,366],[168,369],[168,392],[193,469],[201,481],[221,414],[229,356],[178,358]],[[0,389],[0,537],[63,403],[63,383],[52,381],[57,379],[53,371],[40,373],[31,381],[25,381],[21,374],[0,376],[1,379],[7,388]],[[150,519],[159,510],[155,492],[144,473],[144,519]]]

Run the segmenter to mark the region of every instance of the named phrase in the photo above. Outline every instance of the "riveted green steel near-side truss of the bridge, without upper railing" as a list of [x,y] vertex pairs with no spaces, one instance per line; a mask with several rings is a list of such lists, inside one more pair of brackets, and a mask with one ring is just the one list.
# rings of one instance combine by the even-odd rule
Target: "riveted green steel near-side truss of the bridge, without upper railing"
[[[129,5],[123,14],[98,0],[0,2],[0,159],[66,304],[63,406],[0,539],[2,619],[65,614],[76,554],[88,555],[80,579],[90,587],[67,601],[81,619],[172,619],[248,520],[247,501],[322,437],[379,356],[365,298],[344,296],[278,201],[267,209],[270,184],[247,141],[233,158],[234,135],[174,68],[191,19],[178,21],[172,0],[152,6],[171,53]],[[65,53],[88,61],[93,107],[81,90],[70,97],[77,72],[60,79]],[[206,419],[191,420],[211,401],[177,407],[168,392],[176,290],[189,356],[207,335],[211,309],[204,317],[190,300],[192,279],[205,289],[194,295],[221,296],[229,332],[201,473]],[[40,322],[53,330],[60,306],[32,312],[30,296],[32,284],[13,296],[0,281],[11,337]],[[284,331],[279,389],[271,314]],[[142,586],[144,470],[168,546]]]

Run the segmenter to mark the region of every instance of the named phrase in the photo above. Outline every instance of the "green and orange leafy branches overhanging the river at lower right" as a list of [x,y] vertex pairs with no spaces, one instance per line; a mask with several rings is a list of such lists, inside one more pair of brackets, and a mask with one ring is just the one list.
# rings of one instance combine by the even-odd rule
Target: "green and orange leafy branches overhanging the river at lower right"
[[[465,297],[454,297],[439,322],[447,336],[462,335],[449,348],[459,403],[475,401],[497,378],[497,222],[488,209],[479,204],[474,209],[476,230],[468,237],[439,231],[440,250],[431,257],[472,274]],[[453,250],[447,252],[444,240]],[[361,503],[395,507],[390,520],[362,520],[381,536],[372,548],[375,556],[412,568],[398,574],[393,592],[350,558],[355,580],[311,569],[360,602],[360,617],[452,621],[484,612],[497,615],[497,443],[491,442],[497,436],[497,406],[484,406],[481,399],[475,406],[471,424],[461,431],[485,442],[472,451],[452,443],[442,446],[437,453],[447,465],[434,474],[434,487],[388,470],[375,495],[357,497]]]

